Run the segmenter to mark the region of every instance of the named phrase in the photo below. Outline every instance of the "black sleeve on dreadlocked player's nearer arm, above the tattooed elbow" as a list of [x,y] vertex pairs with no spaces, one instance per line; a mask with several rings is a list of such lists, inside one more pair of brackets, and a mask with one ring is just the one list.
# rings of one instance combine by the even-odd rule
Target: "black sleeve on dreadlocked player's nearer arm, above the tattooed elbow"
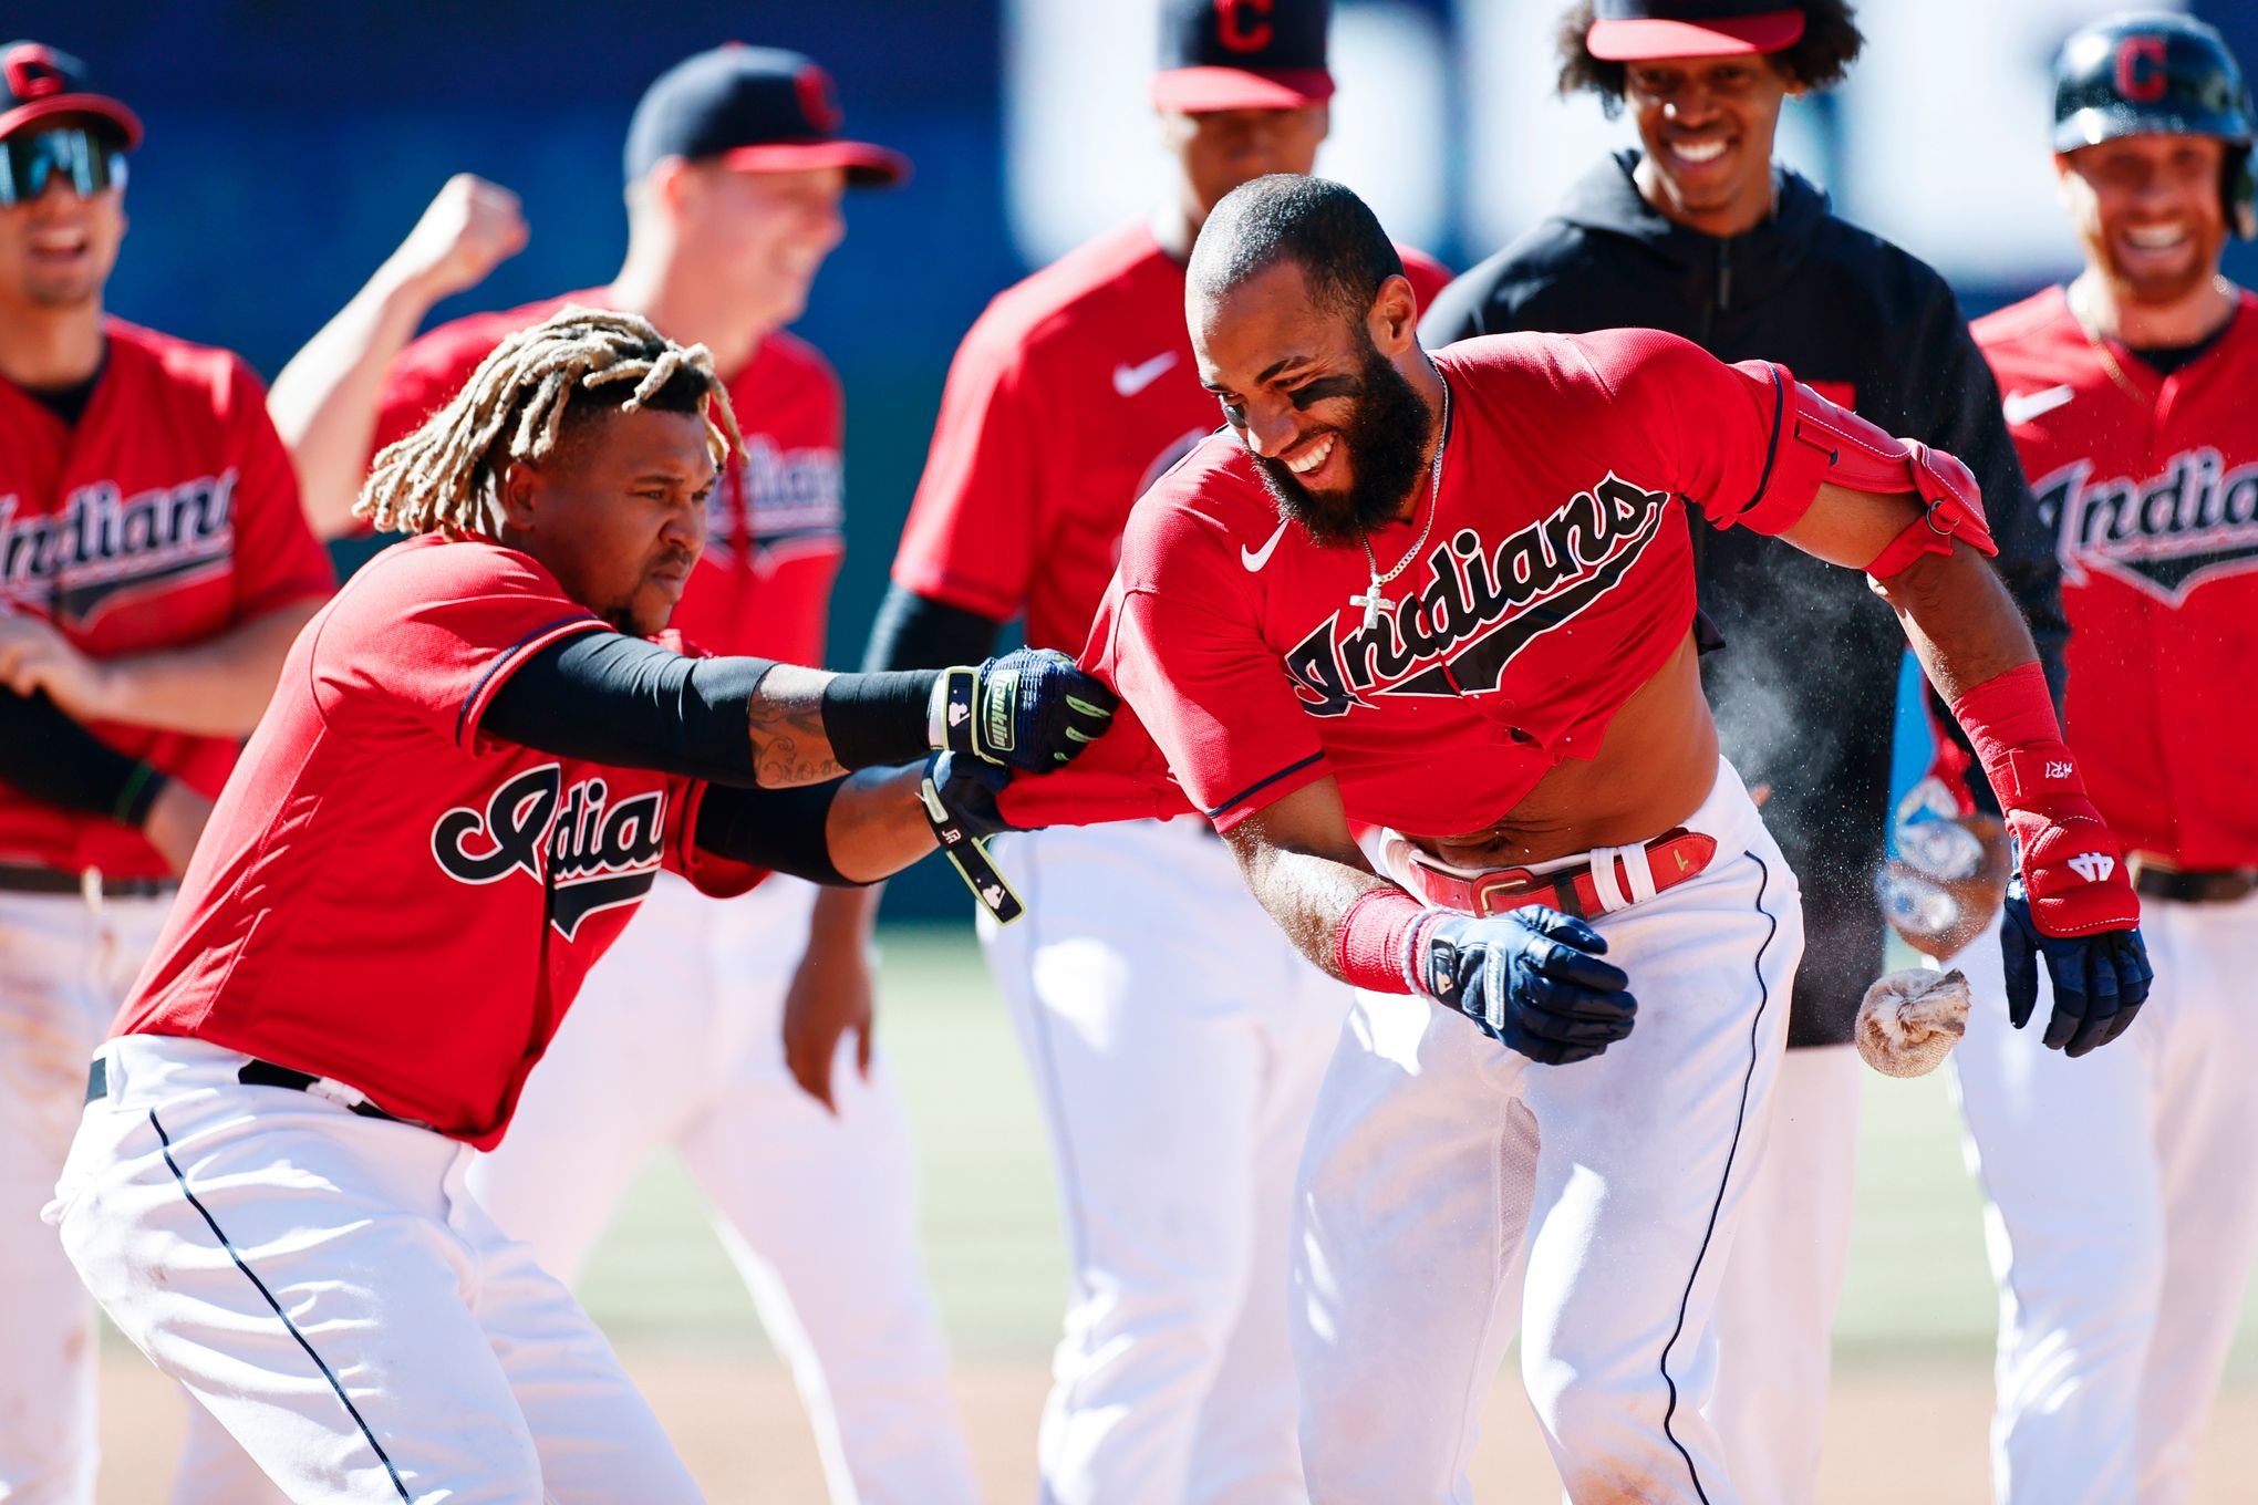
[[492,736],[612,767],[754,783],[747,715],[768,659],[686,659],[623,632],[576,632],[517,666]]

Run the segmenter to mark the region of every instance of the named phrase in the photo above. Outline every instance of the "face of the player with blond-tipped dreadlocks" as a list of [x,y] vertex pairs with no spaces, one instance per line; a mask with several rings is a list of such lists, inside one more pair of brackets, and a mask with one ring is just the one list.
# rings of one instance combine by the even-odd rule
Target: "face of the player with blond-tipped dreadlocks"
[[596,408],[501,483],[504,537],[621,632],[666,627],[704,548],[714,454],[704,413]]

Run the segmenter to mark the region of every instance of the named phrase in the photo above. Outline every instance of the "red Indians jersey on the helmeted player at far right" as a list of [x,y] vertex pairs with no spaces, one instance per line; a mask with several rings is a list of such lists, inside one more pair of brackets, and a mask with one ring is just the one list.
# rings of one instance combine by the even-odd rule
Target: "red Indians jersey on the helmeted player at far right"
[[[1976,320],[2039,521],[2059,528],[2068,742],[2129,851],[2258,866],[2258,298],[2199,359],[2118,377],[2059,287]],[[2127,390],[2129,388],[2129,390]]]

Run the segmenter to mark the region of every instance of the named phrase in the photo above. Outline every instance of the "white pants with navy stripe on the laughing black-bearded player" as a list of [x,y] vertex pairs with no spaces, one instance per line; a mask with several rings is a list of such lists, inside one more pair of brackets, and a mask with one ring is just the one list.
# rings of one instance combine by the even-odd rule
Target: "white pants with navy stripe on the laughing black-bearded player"
[[1594,921],[1628,1040],[1535,1065],[1423,997],[1357,995],[1301,1167],[1301,1449],[1325,1505],[1472,1500],[1477,1417],[1522,1381],[1578,1505],[1725,1505],[1709,1313],[1786,1051],[1797,887],[1739,776],[1712,866]]

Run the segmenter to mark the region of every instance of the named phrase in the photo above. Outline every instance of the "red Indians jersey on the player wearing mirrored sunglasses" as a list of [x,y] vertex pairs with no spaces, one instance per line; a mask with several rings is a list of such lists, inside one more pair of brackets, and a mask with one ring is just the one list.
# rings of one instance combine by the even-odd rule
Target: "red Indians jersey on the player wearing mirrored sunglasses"
[[[0,381],[0,611],[29,611],[93,659],[201,643],[336,587],[305,526],[266,388],[226,350],[104,320],[77,424]],[[233,738],[95,722],[97,738],[203,794]],[[140,830],[0,785],[0,862],[163,878]]]

